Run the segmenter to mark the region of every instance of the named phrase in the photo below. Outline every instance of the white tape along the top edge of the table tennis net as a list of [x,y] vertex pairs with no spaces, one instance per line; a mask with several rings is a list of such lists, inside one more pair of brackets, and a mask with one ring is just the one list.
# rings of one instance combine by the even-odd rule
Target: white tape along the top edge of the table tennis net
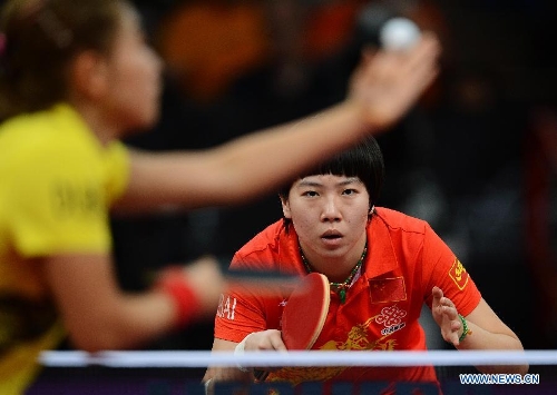
[[39,362],[52,367],[206,367],[206,366],[472,366],[557,365],[555,350],[429,352],[260,352],[234,355],[211,352],[43,352]]

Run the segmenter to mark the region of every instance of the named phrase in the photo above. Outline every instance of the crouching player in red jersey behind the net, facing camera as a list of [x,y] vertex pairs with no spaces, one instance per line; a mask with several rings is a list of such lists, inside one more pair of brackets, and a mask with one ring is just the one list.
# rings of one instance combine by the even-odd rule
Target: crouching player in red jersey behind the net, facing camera
[[[329,313],[312,349],[423,350],[426,336],[418,318],[424,303],[442,338],[458,349],[522,349],[426,221],[375,206],[383,171],[380,148],[369,137],[303,172],[280,192],[283,219],[244,245],[231,267],[273,268],[300,276],[317,271],[329,278]],[[314,296],[300,308],[319,305],[321,296]],[[213,349],[234,350],[240,344],[245,350],[285,350],[281,316],[287,297],[284,289],[268,298],[241,287],[229,289],[216,314]],[[524,374],[528,366],[478,368]],[[250,375],[246,368],[209,367],[205,381]],[[438,385],[432,366],[284,367],[266,379]]]

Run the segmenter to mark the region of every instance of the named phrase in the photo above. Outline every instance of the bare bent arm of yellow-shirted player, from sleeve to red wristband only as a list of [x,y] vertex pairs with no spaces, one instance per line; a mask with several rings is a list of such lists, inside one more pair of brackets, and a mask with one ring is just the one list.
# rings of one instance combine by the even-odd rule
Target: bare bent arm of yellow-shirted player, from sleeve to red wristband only
[[175,305],[159,290],[123,292],[106,254],[45,257],[40,267],[72,344],[81,349],[135,347],[172,328]]

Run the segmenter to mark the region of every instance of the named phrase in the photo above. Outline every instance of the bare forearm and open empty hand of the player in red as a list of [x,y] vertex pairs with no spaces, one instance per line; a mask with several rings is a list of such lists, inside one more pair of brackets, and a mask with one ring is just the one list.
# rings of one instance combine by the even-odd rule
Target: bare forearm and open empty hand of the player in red
[[[460,342],[465,328],[455,304],[443,296],[439,287],[433,287],[432,295],[433,319],[441,328],[443,339],[458,349],[524,349],[518,336],[505,325],[483,298],[472,313],[465,317],[469,333]],[[477,368],[483,373],[528,372],[528,365],[477,366]]]

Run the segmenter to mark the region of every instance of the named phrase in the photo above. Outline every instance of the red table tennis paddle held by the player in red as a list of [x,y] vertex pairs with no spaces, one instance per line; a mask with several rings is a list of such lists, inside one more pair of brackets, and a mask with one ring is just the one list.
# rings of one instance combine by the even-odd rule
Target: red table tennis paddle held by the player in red
[[325,324],[331,292],[329,279],[310,273],[294,288],[282,314],[282,339],[287,349],[310,349]]

